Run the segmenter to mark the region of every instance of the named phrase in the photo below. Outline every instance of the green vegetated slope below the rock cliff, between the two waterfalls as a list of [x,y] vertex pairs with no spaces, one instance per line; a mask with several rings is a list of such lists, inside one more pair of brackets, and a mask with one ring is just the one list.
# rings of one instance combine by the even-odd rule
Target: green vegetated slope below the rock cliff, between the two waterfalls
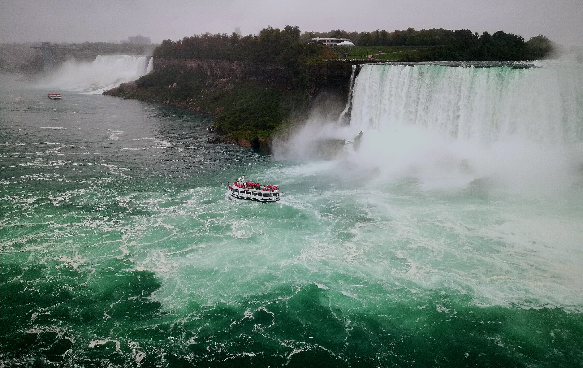
[[[174,83],[176,87],[167,87]],[[135,84],[122,84],[110,94],[215,115],[215,128],[220,134],[249,141],[268,136],[294,111],[303,111],[305,104],[293,91],[234,78],[216,79],[187,68],[153,70]]]

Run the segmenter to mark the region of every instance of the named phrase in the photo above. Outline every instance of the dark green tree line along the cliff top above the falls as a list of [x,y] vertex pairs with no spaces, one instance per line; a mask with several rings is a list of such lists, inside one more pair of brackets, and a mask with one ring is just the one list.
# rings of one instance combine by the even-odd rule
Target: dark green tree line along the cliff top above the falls
[[[210,34],[164,40],[154,49],[156,58],[215,59],[229,61],[281,63],[295,69],[301,63],[319,63],[322,59],[337,58],[341,48],[310,44],[314,37],[351,38],[360,46],[420,47],[403,52],[404,61],[515,61],[542,59],[549,55],[554,44],[545,36],[525,41],[522,36],[496,31],[479,35],[469,30],[407,29],[394,32],[374,31],[347,33],[304,32],[299,27],[283,29],[267,27],[258,36],[239,36],[237,33]],[[401,50],[402,51],[402,50]],[[291,71],[291,70],[290,70]]]

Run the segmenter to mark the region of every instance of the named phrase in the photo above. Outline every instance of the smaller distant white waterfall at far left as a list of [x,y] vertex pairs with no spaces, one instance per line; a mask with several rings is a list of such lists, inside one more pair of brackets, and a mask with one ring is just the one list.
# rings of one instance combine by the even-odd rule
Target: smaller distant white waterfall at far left
[[148,56],[98,55],[93,62],[65,62],[51,77],[49,86],[58,89],[101,93],[138,79],[152,70]]

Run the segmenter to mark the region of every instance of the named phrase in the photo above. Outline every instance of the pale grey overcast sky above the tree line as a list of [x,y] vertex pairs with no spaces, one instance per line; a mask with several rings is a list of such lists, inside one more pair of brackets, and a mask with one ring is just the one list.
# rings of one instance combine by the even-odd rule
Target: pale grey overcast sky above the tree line
[[199,33],[257,34],[286,24],[302,31],[503,30],[583,45],[583,0],[0,0],[5,42],[111,41],[142,34],[152,42]]

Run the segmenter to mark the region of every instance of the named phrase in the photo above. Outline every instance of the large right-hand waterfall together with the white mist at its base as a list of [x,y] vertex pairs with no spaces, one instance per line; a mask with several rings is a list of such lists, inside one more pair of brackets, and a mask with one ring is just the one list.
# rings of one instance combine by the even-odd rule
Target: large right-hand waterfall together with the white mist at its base
[[[352,140],[339,158],[426,188],[487,178],[521,194],[581,185],[583,68],[364,65],[349,125],[312,116],[280,157],[312,154],[322,139]],[[306,154],[307,153],[307,154]]]

